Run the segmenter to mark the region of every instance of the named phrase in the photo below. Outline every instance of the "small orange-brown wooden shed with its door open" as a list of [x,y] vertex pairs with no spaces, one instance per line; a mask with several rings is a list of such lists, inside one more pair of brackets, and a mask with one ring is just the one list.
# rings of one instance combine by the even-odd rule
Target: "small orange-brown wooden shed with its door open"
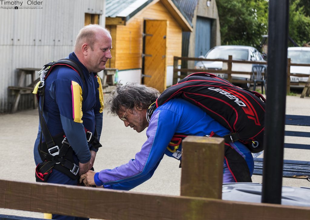
[[172,0],[106,0],[112,35],[109,68],[118,80],[144,83],[160,92],[172,85],[173,56],[181,56],[182,31],[192,24]]

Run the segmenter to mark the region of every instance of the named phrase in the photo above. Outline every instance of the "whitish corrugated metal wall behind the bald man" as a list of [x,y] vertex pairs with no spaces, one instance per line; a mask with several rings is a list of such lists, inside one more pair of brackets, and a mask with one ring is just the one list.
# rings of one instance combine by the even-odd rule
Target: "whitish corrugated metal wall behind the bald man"
[[[22,8],[27,1],[19,9],[0,9],[0,112],[11,109],[13,96],[7,87],[17,86],[16,68],[41,68],[69,55],[85,13],[100,14],[100,25],[105,26],[105,0],[41,2],[42,9]],[[33,106],[31,102],[32,95],[22,95],[19,109]]]

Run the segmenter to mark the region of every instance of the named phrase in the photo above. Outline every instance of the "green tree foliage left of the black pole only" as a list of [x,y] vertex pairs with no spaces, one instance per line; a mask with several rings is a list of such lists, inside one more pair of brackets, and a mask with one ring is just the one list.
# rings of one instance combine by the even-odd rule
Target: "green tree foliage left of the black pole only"
[[222,45],[259,47],[267,34],[268,2],[217,0]]

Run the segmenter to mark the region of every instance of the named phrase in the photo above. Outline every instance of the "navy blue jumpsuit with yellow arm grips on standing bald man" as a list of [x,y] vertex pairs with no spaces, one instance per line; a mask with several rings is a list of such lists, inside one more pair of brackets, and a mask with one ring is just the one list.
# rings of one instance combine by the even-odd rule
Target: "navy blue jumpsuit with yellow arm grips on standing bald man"
[[[73,148],[75,164],[78,165],[79,162],[86,163],[91,159],[90,150],[97,151],[91,144],[87,143],[84,128],[95,134],[96,127],[98,139],[100,139],[104,107],[103,93],[100,89],[100,78],[97,78],[94,73],[89,73],[74,52],[67,58],[73,59],[79,64],[85,77],[85,84],[83,85],[82,78],[72,68],[63,65],[55,66],[45,80],[43,117],[52,136],[61,132],[65,133]],[[36,165],[42,162],[38,152],[40,134],[41,126],[39,123],[38,136],[33,149]],[[47,182],[78,185],[77,179],[73,180],[56,169],[53,169]],[[52,218],[78,219],[77,217],[54,214]]]

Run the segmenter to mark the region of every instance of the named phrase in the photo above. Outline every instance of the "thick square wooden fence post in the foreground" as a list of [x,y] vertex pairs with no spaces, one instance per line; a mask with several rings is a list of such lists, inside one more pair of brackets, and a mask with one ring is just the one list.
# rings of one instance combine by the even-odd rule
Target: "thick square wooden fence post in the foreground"
[[222,199],[224,139],[188,136],[182,146],[181,196]]

